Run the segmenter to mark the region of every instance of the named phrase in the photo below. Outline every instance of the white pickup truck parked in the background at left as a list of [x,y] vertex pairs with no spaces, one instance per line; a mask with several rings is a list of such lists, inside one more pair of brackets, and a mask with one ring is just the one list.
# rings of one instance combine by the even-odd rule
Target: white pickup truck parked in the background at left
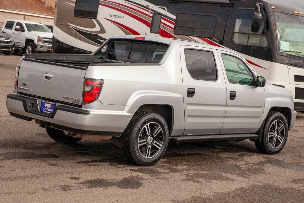
[[53,34],[47,26],[24,20],[6,20],[3,31],[10,34],[16,44],[16,51],[26,54],[50,52]]

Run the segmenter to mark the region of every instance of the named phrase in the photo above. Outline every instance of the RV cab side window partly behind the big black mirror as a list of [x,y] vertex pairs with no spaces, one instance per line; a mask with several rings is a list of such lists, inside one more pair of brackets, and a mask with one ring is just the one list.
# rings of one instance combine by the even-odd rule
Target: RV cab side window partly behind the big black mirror
[[234,26],[233,42],[235,44],[243,44],[250,46],[267,47],[267,37],[262,21],[259,32],[251,32],[251,20],[256,10],[239,9],[237,19]]

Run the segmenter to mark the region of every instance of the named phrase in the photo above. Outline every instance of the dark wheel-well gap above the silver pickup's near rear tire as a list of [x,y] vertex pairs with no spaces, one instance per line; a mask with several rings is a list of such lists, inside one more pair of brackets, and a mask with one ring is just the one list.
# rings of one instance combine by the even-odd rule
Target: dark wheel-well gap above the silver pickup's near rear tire
[[148,111],[161,115],[168,125],[169,135],[171,135],[174,124],[174,109],[169,104],[143,104],[135,113]]

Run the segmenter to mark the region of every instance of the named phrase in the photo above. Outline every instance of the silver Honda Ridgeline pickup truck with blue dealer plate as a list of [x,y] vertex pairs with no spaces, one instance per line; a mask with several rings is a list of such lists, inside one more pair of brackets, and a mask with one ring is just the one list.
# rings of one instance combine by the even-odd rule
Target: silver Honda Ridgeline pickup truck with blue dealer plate
[[237,53],[152,36],[115,36],[93,54],[25,54],[6,106],[61,143],[112,140],[152,165],[169,141],[254,141],[276,154],[295,123],[292,93]]

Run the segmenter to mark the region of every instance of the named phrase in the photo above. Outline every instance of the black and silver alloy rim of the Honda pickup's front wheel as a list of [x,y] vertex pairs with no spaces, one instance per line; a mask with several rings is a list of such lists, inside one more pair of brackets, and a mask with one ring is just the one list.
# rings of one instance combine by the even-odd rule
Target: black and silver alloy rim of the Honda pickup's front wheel
[[285,137],[285,126],[281,120],[272,122],[268,132],[268,142],[273,149],[277,149],[283,144]]

